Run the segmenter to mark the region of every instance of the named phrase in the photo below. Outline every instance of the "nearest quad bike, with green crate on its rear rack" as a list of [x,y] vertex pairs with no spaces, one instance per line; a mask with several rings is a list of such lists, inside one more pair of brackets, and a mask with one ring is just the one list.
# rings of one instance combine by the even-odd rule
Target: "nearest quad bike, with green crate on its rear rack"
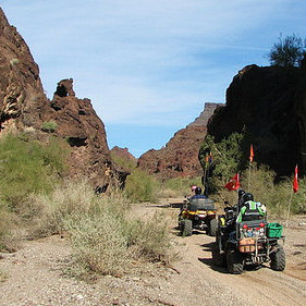
[[[228,208],[219,217],[216,243],[212,246],[212,261],[228,267],[230,273],[241,274],[246,266],[259,267],[270,262],[276,271],[285,268],[284,236],[282,225],[269,223],[267,217],[235,222],[235,215]],[[232,209],[234,211],[234,209]],[[282,241],[282,244],[280,244]]]

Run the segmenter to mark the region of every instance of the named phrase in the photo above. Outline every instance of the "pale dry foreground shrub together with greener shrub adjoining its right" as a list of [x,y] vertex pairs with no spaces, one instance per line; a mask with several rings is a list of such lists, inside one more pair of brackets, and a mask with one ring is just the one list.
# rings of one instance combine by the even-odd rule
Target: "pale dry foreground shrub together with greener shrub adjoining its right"
[[118,276],[132,269],[132,260],[172,258],[170,232],[162,216],[147,221],[130,219],[126,213],[114,213],[108,205],[98,211],[71,215],[65,221],[78,267],[74,271]]

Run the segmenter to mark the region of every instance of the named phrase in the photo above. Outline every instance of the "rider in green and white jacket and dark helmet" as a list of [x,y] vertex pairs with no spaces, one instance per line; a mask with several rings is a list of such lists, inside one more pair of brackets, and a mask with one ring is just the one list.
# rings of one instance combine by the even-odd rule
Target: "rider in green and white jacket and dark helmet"
[[240,209],[236,222],[248,221],[248,220],[258,220],[262,219],[266,216],[265,209],[260,203],[254,201],[253,194],[245,193],[243,195],[243,206]]

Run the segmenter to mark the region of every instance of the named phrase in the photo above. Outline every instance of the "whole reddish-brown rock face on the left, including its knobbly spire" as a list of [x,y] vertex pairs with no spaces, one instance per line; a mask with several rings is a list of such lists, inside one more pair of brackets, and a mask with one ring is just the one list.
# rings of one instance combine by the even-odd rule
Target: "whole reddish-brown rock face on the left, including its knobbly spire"
[[75,97],[71,78],[59,82],[53,99],[47,99],[26,42],[1,9],[0,39],[0,136],[30,128],[47,140],[52,132],[71,147],[70,176],[85,175],[101,191],[123,184],[127,173],[113,164],[90,100]]

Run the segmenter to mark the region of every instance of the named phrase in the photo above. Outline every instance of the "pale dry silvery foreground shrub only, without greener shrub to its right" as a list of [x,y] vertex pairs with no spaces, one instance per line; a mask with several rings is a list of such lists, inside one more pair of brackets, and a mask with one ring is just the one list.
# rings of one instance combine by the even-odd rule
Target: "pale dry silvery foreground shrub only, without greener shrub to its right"
[[113,276],[124,272],[131,254],[122,222],[109,209],[75,213],[65,220],[75,264],[81,270]]

